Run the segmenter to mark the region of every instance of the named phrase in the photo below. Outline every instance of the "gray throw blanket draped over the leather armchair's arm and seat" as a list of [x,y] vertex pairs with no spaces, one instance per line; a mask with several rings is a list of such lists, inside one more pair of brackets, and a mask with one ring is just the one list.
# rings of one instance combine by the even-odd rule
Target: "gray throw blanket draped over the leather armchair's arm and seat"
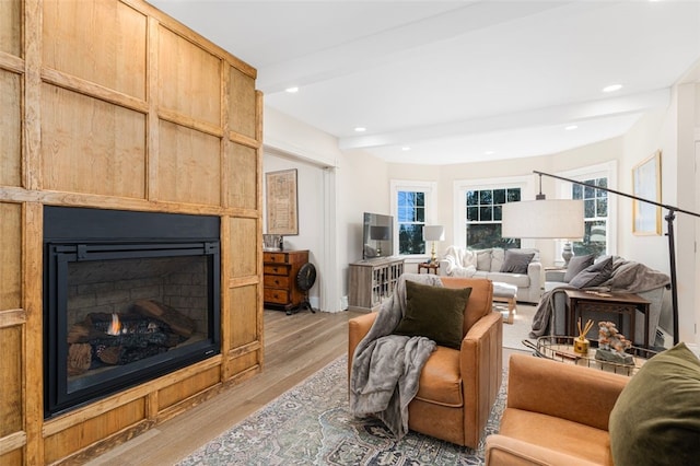
[[400,439],[408,433],[408,404],[435,342],[425,337],[392,335],[406,312],[406,280],[442,287],[435,275],[404,273],[382,304],[368,335],[358,343],[350,370],[350,412],[374,415]]

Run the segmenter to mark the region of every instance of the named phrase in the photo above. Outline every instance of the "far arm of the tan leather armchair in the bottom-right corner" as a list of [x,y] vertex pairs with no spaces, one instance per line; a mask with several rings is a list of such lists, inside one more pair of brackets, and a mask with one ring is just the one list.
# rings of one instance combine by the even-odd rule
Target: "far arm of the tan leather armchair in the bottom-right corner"
[[508,407],[608,430],[608,418],[629,377],[532,356],[509,363]]

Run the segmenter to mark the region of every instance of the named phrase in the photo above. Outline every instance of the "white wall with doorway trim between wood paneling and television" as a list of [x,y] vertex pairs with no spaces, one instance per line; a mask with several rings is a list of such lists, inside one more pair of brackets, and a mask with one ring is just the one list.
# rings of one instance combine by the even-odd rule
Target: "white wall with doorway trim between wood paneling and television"
[[341,311],[348,264],[362,258],[362,213],[389,211],[386,163],[364,152],[343,153],[336,138],[268,107],[264,128],[262,172],[299,170],[300,235],[288,236],[285,246],[307,248],[317,260],[313,304]]

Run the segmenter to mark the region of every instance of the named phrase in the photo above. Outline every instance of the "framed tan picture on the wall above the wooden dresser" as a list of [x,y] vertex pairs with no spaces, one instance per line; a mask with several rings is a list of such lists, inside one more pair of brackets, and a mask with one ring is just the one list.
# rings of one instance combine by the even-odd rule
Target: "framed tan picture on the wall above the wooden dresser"
[[299,234],[296,168],[265,174],[267,233]]

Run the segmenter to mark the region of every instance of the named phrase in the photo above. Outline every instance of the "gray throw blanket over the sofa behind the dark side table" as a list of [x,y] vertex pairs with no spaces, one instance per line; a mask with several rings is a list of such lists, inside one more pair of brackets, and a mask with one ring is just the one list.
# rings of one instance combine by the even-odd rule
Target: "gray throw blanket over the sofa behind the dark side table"
[[[616,256],[612,258],[612,275],[599,287],[585,288],[584,290],[596,291],[619,291],[626,293],[642,293],[670,283],[670,278],[658,270],[654,270],[644,264],[633,260],[625,260]],[[563,293],[565,290],[576,290],[578,288],[562,283],[542,294],[537,312],[533,317],[533,327],[529,333],[530,338],[541,337],[549,331],[549,323],[555,308],[555,295]]]

